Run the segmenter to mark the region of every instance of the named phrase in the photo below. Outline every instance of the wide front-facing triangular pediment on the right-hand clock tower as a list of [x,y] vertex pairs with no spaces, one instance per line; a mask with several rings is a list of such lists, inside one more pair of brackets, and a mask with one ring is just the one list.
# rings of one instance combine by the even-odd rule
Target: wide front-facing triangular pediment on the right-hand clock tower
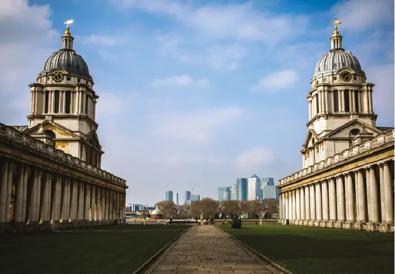
[[[356,135],[355,133],[358,130],[362,131],[363,127],[367,133],[372,133],[373,136],[381,133],[380,129],[375,128],[371,125],[368,125],[361,120],[354,119],[354,120],[351,120],[351,121],[339,126],[338,128],[333,129],[331,132],[324,135],[323,139],[347,138],[347,137],[350,137],[351,135]],[[353,129],[355,130],[354,134],[352,134]],[[358,129],[358,130],[356,130],[356,129]]]

